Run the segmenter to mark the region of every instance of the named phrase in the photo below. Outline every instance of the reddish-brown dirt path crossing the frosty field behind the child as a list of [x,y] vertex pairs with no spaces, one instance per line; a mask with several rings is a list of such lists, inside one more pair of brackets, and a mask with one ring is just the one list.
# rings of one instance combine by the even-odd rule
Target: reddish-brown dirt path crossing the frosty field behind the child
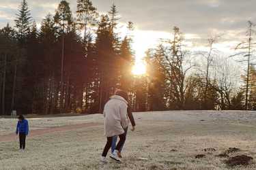
[[[99,126],[102,125],[101,123],[84,123],[84,124],[74,124],[74,125],[67,125],[67,126],[59,126],[59,127],[50,127],[44,129],[35,129],[29,132],[29,137],[41,136],[48,133],[55,133],[61,131],[72,131],[76,129],[81,129],[85,127],[91,126]],[[0,135],[0,141],[15,141],[16,135],[14,133],[8,135]]]

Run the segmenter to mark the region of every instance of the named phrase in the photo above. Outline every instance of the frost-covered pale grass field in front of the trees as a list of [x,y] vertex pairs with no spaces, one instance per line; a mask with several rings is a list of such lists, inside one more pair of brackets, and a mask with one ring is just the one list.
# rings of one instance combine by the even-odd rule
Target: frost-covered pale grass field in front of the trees
[[[13,133],[16,120],[0,119],[0,169],[230,169],[216,155],[240,148],[230,156],[256,159],[256,112],[178,111],[135,113],[137,129],[128,132],[122,164],[99,159],[104,147],[103,126],[82,127],[28,137],[27,152],[17,141],[1,141]],[[103,123],[102,115],[29,120],[31,129]],[[203,151],[214,148],[216,151]],[[195,158],[205,154],[205,158]],[[255,160],[246,167],[256,169]]]

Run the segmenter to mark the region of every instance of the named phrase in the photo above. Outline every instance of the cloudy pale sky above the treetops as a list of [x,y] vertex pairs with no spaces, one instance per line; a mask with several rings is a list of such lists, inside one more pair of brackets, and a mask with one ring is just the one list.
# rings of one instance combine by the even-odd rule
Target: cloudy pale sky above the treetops
[[[0,1],[0,27],[14,25],[21,0]],[[76,0],[67,0],[72,12]],[[27,0],[35,22],[40,24],[46,14],[55,13],[59,0]],[[172,28],[179,27],[186,44],[205,49],[208,37],[221,35],[216,48],[232,54],[233,48],[245,37],[247,21],[256,22],[255,0],[92,0],[98,12],[109,11],[115,3],[122,23],[134,22],[133,48],[137,58],[144,56],[160,39],[171,38]],[[120,30],[123,28],[120,27]]]

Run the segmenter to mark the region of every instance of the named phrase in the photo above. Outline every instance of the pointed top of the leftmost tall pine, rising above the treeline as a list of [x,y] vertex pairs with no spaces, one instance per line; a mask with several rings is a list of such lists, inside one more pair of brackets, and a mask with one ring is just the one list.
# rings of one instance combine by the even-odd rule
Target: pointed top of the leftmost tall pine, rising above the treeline
[[26,0],[21,2],[20,10],[18,10],[18,14],[16,14],[16,16],[17,18],[14,21],[16,22],[16,29],[18,32],[17,37],[20,44],[24,44],[25,38],[29,34],[32,18]]

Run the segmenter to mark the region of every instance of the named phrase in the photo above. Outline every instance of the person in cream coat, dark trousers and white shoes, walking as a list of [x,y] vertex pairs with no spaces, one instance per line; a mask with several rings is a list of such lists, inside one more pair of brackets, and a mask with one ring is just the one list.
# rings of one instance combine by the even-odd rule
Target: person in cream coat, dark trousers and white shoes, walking
[[113,137],[118,136],[119,142],[115,147],[114,152],[111,154],[111,158],[117,162],[121,162],[117,156],[117,152],[121,151],[126,141],[126,134],[124,129],[128,127],[127,108],[128,102],[127,92],[119,90],[116,95],[113,95],[110,100],[104,105],[104,135],[106,136],[106,145],[102,152],[102,163],[107,163],[106,155],[111,148]]

